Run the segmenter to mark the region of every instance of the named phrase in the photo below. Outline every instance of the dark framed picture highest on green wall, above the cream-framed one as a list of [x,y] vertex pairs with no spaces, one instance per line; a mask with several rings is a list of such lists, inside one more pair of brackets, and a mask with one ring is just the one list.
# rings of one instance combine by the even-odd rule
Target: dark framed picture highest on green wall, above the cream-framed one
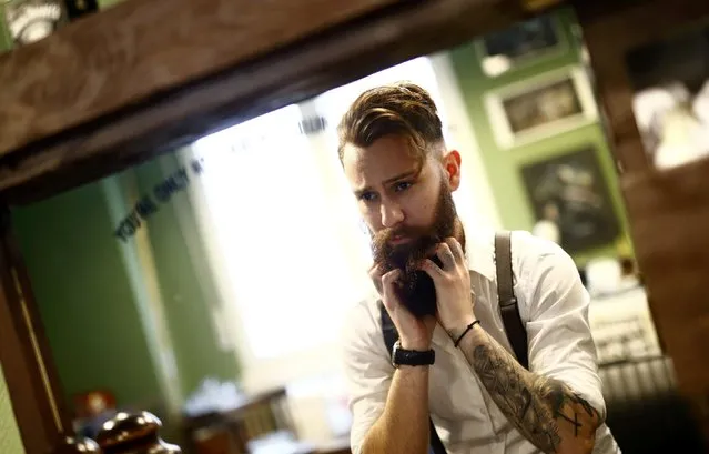
[[539,16],[475,41],[483,72],[495,78],[544,61],[568,50],[561,24],[554,14]]

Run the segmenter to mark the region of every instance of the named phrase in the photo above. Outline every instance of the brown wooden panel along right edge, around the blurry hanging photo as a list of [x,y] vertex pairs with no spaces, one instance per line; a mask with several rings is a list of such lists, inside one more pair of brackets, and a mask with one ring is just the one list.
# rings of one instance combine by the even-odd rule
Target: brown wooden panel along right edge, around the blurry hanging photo
[[709,1],[631,1],[614,14],[595,13],[597,7],[580,6],[579,17],[638,265],[680,387],[709,441],[709,160],[668,171],[652,168],[636,125],[625,62],[638,46],[706,23]]

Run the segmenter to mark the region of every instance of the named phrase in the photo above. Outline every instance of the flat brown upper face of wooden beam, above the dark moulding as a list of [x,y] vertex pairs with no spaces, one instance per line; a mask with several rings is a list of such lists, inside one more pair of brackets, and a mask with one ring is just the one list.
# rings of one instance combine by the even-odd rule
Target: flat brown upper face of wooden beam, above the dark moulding
[[0,56],[0,155],[397,1],[117,4]]

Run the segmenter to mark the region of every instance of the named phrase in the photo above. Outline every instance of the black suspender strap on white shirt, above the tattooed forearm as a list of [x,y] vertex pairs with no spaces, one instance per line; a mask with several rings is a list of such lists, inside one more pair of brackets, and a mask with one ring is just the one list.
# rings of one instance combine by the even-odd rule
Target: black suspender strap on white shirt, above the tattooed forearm
[[507,339],[519,364],[525,369],[529,369],[527,331],[519,316],[519,307],[517,306],[517,297],[513,286],[512,242],[510,232],[508,231],[495,234],[495,268],[497,269],[499,312],[503,316]]

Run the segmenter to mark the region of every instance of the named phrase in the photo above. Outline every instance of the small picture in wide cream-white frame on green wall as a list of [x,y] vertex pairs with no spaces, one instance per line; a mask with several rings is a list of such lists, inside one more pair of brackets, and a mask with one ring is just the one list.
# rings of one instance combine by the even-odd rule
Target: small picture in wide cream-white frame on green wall
[[484,95],[495,141],[510,149],[559,134],[598,118],[590,82],[580,67],[543,73]]

